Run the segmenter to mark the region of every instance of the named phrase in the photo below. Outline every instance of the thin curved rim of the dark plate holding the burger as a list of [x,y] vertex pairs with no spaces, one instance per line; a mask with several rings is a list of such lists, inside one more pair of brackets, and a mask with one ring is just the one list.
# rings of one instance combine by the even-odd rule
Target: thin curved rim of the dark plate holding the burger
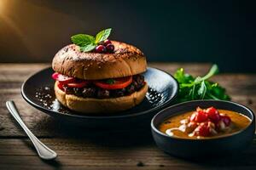
[[[155,67],[148,67],[148,68],[153,68],[153,69],[162,71],[162,72],[166,73],[167,75],[169,75],[170,77],[172,77],[172,75],[169,74],[166,71],[160,70],[160,69],[155,68]],[[71,114],[63,114],[63,113],[60,113],[58,111],[52,111],[52,110],[44,108],[41,105],[35,104],[34,102],[32,102],[30,99],[27,98],[27,96],[26,96],[26,94],[24,92],[24,87],[26,85],[26,82],[28,82],[32,77],[35,77],[39,72],[45,71],[45,70],[48,70],[48,69],[51,69],[51,67],[47,67],[47,68],[44,68],[43,70],[37,71],[36,73],[32,74],[32,76],[28,77],[26,79],[26,81],[23,82],[22,85],[21,85],[21,96],[23,97],[23,99],[26,100],[26,102],[28,104],[32,105],[33,107],[37,108],[40,111],[43,111],[45,113],[52,113],[52,114],[62,115],[62,116],[79,117],[79,118],[85,118],[85,119],[109,119],[109,118],[115,119],[115,118],[127,118],[127,117],[133,117],[133,116],[140,116],[140,115],[152,112],[152,111],[160,110],[161,108],[165,107],[166,105],[169,105],[174,99],[176,99],[177,93],[178,93],[178,90],[179,90],[179,86],[178,86],[177,80],[174,77],[172,77],[173,82],[174,82],[174,87],[177,88],[177,90],[176,90],[176,92],[174,92],[174,95],[173,95],[172,98],[167,99],[166,102],[164,104],[162,104],[162,105],[158,105],[158,106],[156,106],[154,108],[151,108],[151,109],[149,109],[147,111],[140,111],[140,112],[137,112],[137,113],[134,113],[134,114],[130,114],[130,115],[127,114],[127,115],[122,115],[122,116],[81,116],[81,115],[75,115],[75,114],[73,114],[73,115],[71,115]],[[51,77],[49,77],[49,78],[51,78]]]

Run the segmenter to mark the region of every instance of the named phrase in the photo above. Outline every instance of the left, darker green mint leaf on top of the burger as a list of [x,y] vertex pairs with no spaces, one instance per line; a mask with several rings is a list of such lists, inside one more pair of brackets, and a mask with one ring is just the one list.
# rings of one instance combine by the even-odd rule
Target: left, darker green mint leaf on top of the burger
[[76,44],[80,47],[83,47],[87,44],[94,43],[95,37],[87,35],[87,34],[77,34],[77,35],[74,35],[73,37],[71,37],[71,41],[74,44]]

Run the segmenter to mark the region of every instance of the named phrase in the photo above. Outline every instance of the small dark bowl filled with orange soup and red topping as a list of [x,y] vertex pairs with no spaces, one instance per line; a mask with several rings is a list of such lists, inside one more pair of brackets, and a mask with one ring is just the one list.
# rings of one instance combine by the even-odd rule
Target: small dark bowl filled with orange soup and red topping
[[159,148],[173,156],[229,156],[252,143],[255,116],[235,102],[195,100],[160,111],[151,130]]

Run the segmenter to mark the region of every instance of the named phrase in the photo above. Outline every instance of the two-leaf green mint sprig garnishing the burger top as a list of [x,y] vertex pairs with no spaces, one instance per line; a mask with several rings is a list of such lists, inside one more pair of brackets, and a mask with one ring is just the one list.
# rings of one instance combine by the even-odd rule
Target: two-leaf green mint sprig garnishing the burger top
[[80,51],[89,52],[96,48],[98,43],[105,41],[109,37],[111,30],[111,28],[102,30],[97,33],[96,37],[87,34],[77,34],[71,37],[71,41],[80,47]]

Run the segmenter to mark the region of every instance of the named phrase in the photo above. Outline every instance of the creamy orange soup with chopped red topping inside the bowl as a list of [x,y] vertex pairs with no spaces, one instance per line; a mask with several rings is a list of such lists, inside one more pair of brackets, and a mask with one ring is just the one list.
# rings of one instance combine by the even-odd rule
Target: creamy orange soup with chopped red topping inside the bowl
[[158,129],[169,136],[185,139],[202,139],[236,133],[249,125],[251,120],[235,111],[197,108],[160,123]]

